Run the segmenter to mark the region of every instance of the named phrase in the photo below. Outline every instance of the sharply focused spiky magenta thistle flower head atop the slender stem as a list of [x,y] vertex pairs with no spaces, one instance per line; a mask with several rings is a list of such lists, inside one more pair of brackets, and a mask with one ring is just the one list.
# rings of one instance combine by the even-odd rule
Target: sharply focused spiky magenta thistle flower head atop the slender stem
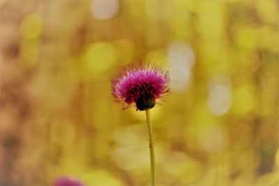
[[114,100],[128,106],[135,104],[141,111],[153,108],[156,100],[168,92],[169,73],[155,64],[129,65],[112,80]]

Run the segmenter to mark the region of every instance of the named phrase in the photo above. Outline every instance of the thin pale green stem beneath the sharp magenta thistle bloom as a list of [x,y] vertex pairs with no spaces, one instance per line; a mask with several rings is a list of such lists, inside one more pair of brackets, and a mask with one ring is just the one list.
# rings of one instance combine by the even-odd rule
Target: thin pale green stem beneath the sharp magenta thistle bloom
[[154,157],[154,142],[153,142],[153,132],[152,125],[150,122],[149,110],[145,110],[146,114],[146,123],[149,130],[149,150],[150,150],[150,162],[151,162],[151,185],[155,186],[155,157]]

